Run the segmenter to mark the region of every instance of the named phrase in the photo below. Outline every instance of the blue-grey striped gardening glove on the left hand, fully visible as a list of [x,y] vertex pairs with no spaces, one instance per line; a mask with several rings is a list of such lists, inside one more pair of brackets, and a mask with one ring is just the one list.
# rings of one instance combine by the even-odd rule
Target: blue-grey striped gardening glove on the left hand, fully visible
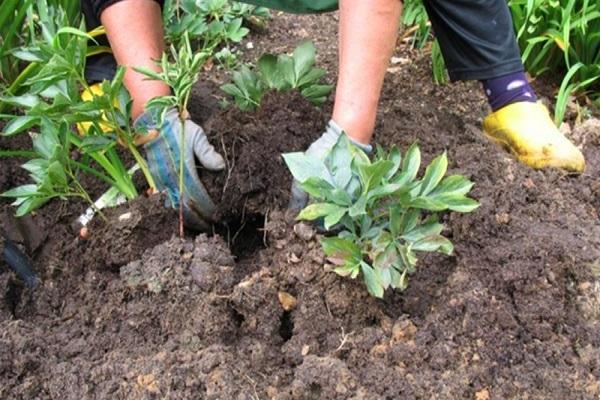
[[[223,157],[208,143],[202,128],[189,119],[182,125],[179,112],[170,109],[165,114],[162,124],[160,117],[152,111],[146,111],[135,121],[136,130],[146,132],[146,159],[156,189],[166,192],[173,208],[183,202],[183,213],[186,226],[207,230],[210,228],[215,205],[196,170],[196,157],[207,169],[219,171],[225,168]],[[180,143],[183,133],[183,155]],[[183,157],[183,196],[179,193],[179,161]]]

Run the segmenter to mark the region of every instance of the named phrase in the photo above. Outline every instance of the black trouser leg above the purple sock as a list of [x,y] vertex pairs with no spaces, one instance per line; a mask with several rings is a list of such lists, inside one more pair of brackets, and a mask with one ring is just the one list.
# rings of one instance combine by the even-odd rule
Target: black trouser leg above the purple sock
[[523,71],[506,0],[424,0],[452,81]]

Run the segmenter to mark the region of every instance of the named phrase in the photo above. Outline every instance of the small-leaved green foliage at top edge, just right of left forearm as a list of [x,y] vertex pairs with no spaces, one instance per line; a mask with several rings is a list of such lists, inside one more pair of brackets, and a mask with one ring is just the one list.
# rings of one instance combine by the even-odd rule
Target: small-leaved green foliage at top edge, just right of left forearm
[[163,9],[167,42],[179,47],[185,35],[228,68],[238,59],[232,45],[250,31],[244,23],[262,27],[268,18],[269,11],[264,7],[230,0],[167,0]]

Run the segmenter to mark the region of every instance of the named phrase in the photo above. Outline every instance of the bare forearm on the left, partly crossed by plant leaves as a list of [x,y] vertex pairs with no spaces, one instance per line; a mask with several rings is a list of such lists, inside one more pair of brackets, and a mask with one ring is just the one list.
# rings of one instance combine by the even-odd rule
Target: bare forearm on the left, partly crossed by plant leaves
[[124,83],[133,99],[135,119],[150,99],[170,94],[165,83],[147,80],[131,69],[135,66],[159,70],[153,60],[160,59],[164,49],[160,5],[154,0],[120,1],[107,7],[100,19],[117,63],[127,67]]

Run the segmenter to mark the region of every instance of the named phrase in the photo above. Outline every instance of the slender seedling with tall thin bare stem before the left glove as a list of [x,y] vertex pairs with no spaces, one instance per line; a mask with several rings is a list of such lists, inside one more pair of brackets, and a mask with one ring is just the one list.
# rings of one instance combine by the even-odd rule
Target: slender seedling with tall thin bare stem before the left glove
[[[160,66],[160,72],[148,68],[135,68],[136,71],[146,75],[152,80],[159,80],[172,89],[172,95],[155,97],[146,104],[148,109],[156,109],[160,111],[161,120],[165,113],[171,108],[177,108],[181,123],[181,138],[180,138],[180,154],[184,154],[185,134],[184,122],[187,112],[187,105],[192,93],[194,84],[198,81],[200,69],[206,59],[210,56],[207,52],[196,52],[192,50],[190,40],[187,35],[184,35],[179,48],[170,47],[171,59],[166,53],[163,53],[157,65]],[[162,122],[161,122],[162,123]],[[184,157],[179,157],[179,193],[183,197],[185,187],[183,185]],[[179,233],[184,236],[184,220],[183,220],[183,202],[179,202]]]

